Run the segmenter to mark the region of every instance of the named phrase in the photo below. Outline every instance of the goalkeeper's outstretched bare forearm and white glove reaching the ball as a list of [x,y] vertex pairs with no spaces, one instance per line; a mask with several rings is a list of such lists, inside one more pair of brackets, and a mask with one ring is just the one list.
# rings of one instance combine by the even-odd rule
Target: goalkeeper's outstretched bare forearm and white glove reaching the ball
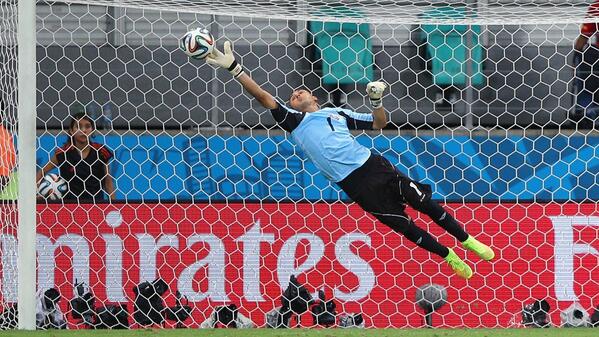
[[231,42],[226,41],[224,44],[225,52],[214,48],[212,53],[206,57],[206,62],[221,68],[227,69],[234,78],[236,78],[243,88],[253,97],[255,97],[263,107],[267,109],[275,109],[278,104],[274,97],[269,94],[266,90],[262,89],[256,81],[254,81],[248,74],[243,71],[241,64],[237,63],[233,50],[231,48]]

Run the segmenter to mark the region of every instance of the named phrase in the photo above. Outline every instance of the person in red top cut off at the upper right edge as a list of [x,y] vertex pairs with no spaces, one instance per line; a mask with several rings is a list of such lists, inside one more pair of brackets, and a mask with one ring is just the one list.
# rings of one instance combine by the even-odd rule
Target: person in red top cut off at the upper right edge
[[[599,0],[593,2],[587,10],[587,17],[596,16],[599,16]],[[576,121],[584,116],[594,119],[599,110],[599,94],[597,93],[597,89],[599,89],[599,63],[597,62],[599,60],[599,38],[597,28],[597,23],[583,24],[580,28],[580,35],[574,42],[574,95],[576,101],[571,117]]]

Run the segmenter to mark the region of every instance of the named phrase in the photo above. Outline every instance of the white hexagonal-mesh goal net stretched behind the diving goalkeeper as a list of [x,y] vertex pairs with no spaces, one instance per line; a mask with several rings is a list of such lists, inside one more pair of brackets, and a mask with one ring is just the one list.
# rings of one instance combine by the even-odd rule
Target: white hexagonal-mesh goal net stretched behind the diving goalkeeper
[[[573,304],[592,314],[592,3],[38,1],[36,78],[17,85],[17,0],[0,1],[2,321],[18,299],[18,169],[5,144],[18,143],[16,90],[27,85],[37,167],[61,194],[37,204],[40,310],[64,319],[43,328],[212,327],[228,313],[276,325],[267,314],[285,308],[292,276],[309,294],[297,299],[314,303],[291,326],[422,327],[417,293],[431,284],[436,327],[522,326],[535,300],[548,302],[553,325]],[[228,72],[178,49],[199,26],[218,48],[232,41],[246,72],[283,101],[306,87],[323,106],[370,112],[366,84],[385,81],[390,123],[357,140],[430,184],[496,259],[480,261],[409,211],[473,267],[464,281],[353,204]],[[311,313],[319,290],[336,304],[332,319]]]

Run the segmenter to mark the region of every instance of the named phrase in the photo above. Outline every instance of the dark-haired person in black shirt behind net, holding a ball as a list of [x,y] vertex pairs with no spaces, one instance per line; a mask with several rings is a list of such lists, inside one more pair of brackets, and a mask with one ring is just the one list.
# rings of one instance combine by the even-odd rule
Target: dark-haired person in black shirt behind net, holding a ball
[[95,202],[105,200],[106,195],[113,200],[114,183],[108,165],[113,154],[105,145],[91,141],[95,131],[94,121],[87,115],[78,113],[72,116],[69,139],[38,171],[37,181],[58,167],[60,176],[69,185],[64,200]]

